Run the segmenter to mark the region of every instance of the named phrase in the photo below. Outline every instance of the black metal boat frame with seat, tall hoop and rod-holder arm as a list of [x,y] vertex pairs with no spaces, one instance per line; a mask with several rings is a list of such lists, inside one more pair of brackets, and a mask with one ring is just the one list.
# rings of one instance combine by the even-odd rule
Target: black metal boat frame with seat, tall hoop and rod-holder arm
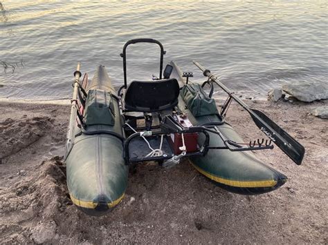
[[[127,86],[127,47],[134,43],[155,43],[157,44],[160,49],[160,63],[159,63],[159,79],[156,81],[132,81],[131,84],[129,84],[129,87]],[[227,139],[217,128],[221,124],[224,124],[224,120],[218,123],[213,124],[206,124],[203,126],[192,126],[190,128],[184,128],[178,121],[172,117],[173,115],[173,108],[178,104],[178,97],[179,97],[179,83],[176,79],[163,79],[162,80],[162,72],[163,72],[163,56],[165,55],[165,50],[163,48],[163,45],[161,42],[155,40],[155,39],[132,39],[130,41],[127,41],[125,43],[125,46],[123,47],[123,51],[120,54],[120,56],[123,59],[123,72],[124,72],[124,84],[119,88],[118,90],[118,97],[120,98],[119,104],[120,104],[120,113],[125,118],[127,122],[131,121],[132,128],[136,130],[136,133],[131,133],[134,130],[131,130],[131,128],[123,125],[122,129],[124,131],[127,131],[128,137],[123,141],[123,147],[124,147],[124,156],[125,156],[125,163],[129,164],[130,162],[142,162],[142,161],[163,161],[165,159],[170,159],[174,157],[172,149],[172,146],[168,144],[167,138],[168,135],[179,133],[179,134],[185,134],[185,133],[199,133],[205,135],[204,141],[201,143],[201,146],[198,146],[198,150],[194,153],[185,153],[185,157],[189,157],[192,155],[206,155],[208,153],[208,150],[212,149],[228,149],[230,151],[242,151],[242,150],[262,150],[262,149],[268,149],[273,148],[273,145],[271,144],[271,141],[266,141],[264,144],[264,139],[262,141],[254,141],[253,143],[250,142],[248,146],[244,143],[237,143],[235,141],[231,141],[230,139]],[[188,74],[188,77],[191,77],[192,73]],[[169,76],[170,77],[170,76]],[[203,86],[205,83],[203,84]],[[203,87],[202,86],[202,87]],[[122,92],[122,90],[125,91],[125,95]],[[210,95],[212,95],[212,90]],[[167,92],[170,92],[170,97],[167,99],[165,95],[167,95]],[[228,102],[225,104],[223,110],[221,112],[226,112],[228,109],[228,106],[230,104],[231,100],[228,100]],[[134,117],[129,116],[125,113],[127,112],[143,112],[143,116]],[[159,125],[158,126],[152,126],[152,123],[147,126],[147,120],[149,120],[149,115],[147,113],[157,113],[158,119],[159,119]],[[137,119],[145,119],[146,127],[139,127],[136,124]],[[131,126],[131,125],[130,125]],[[222,141],[224,142],[224,146],[210,146],[210,133],[219,135],[221,137]],[[149,139],[149,141],[157,141],[156,145],[159,145],[161,142],[161,137],[163,137],[163,144],[165,146],[169,146],[170,148],[167,148],[167,153],[163,154],[161,156],[155,156],[155,157],[145,157],[144,152],[147,152],[147,148],[141,149],[143,151],[142,154],[138,153],[140,151],[140,142],[144,141],[145,139]],[[161,137],[160,137],[161,136]],[[144,138],[144,139],[143,139]],[[137,142],[138,146],[134,144],[134,142]],[[145,141],[143,142],[145,143]],[[147,146],[146,146],[147,147]],[[136,153],[136,157],[131,157],[130,152],[134,151]],[[147,155],[146,155],[147,156]]]

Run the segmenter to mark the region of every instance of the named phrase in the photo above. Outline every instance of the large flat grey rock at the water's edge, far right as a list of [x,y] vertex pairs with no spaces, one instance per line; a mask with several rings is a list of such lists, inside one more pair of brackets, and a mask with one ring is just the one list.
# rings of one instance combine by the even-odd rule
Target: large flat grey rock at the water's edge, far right
[[311,102],[318,99],[328,99],[328,83],[324,83],[322,81],[285,84],[282,86],[282,90],[304,102]]

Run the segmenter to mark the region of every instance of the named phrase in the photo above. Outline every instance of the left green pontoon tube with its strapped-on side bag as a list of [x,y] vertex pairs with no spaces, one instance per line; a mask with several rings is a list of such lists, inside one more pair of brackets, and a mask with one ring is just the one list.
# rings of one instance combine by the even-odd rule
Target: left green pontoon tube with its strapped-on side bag
[[77,117],[70,122],[73,137],[68,133],[67,186],[73,204],[89,215],[102,215],[122,200],[127,188],[124,121],[104,66],[98,67],[90,84],[75,79],[75,86],[78,98],[72,100],[72,108]]

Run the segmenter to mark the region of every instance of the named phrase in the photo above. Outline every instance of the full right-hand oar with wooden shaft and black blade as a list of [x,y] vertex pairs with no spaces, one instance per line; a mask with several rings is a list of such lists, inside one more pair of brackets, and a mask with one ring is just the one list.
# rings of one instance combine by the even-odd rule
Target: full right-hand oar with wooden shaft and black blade
[[224,84],[213,75],[210,70],[201,66],[197,61],[193,61],[194,65],[203,71],[205,77],[209,77],[210,81],[215,82],[220,86],[225,92],[228,93],[230,97],[235,99],[237,103],[242,106],[253,118],[256,126],[264,133],[268,138],[270,138],[286,155],[291,158],[295,164],[300,165],[304,157],[304,147],[298,143],[291,135],[286,133],[280,126],[277,126],[274,121],[268,118],[263,112],[255,110],[247,106],[244,101],[236,97],[233,92],[231,92]]

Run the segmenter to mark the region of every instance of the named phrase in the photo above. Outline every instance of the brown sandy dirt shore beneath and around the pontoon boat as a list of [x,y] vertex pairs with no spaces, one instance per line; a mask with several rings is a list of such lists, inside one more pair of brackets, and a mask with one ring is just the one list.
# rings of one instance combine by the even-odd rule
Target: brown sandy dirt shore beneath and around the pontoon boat
[[[215,186],[183,161],[140,164],[112,213],[72,205],[62,161],[69,106],[0,103],[0,244],[327,244],[328,120],[309,114],[328,101],[247,101],[306,148],[301,166],[279,148],[255,152],[289,177],[272,193],[243,196]],[[233,104],[229,121],[246,141],[264,137]]]

